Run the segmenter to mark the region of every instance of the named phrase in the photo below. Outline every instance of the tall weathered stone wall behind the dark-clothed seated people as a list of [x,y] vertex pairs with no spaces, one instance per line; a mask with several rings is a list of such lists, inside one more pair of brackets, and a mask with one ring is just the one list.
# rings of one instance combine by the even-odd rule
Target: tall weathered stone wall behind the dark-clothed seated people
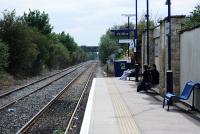
[[[172,16],[172,36],[171,36],[171,67],[173,71],[173,88],[174,93],[180,93],[180,36],[182,24],[185,16]],[[166,92],[166,71],[168,70],[168,40],[167,40],[167,19],[160,21],[160,25],[155,27],[149,33],[150,45],[149,56],[150,64],[155,63],[160,72],[160,94]],[[145,62],[146,57],[146,32],[142,38],[142,56]]]

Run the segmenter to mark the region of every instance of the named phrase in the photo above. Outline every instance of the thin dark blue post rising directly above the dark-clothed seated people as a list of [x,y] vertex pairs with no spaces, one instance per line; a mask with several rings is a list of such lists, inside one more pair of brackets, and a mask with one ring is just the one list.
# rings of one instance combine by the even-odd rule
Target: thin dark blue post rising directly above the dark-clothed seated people
[[146,19],[147,19],[147,64],[149,65],[149,0],[147,0],[147,14],[146,14]]

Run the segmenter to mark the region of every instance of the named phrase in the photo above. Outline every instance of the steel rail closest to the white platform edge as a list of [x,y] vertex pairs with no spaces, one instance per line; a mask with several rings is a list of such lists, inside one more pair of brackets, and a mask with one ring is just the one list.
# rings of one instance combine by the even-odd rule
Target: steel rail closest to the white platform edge
[[89,75],[89,77],[88,77],[88,80],[87,80],[87,82],[86,82],[86,84],[85,84],[85,86],[84,86],[83,92],[82,92],[82,94],[81,94],[81,96],[80,96],[80,98],[79,98],[79,101],[78,101],[77,104],[76,104],[76,107],[75,107],[75,109],[74,109],[74,111],[73,111],[73,113],[72,113],[72,116],[71,116],[71,118],[70,118],[70,120],[69,120],[69,122],[68,122],[68,125],[67,125],[67,128],[66,128],[64,134],[67,134],[67,133],[69,132],[69,129],[70,129],[70,126],[72,125],[72,121],[73,121],[73,119],[74,119],[74,116],[75,116],[75,114],[76,114],[76,112],[77,112],[77,110],[78,110],[78,107],[80,106],[80,104],[81,104],[81,102],[82,102],[82,100],[83,100],[83,97],[84,97],[85,92],[86,92],[86,90],[87,90],[87,88],[88,88],[88,85],[89,85],[89,82],[90,82],[90,80],[91,80],[91,78],[92,78],[92,75],[93,75],[93,72],[91,72],[90,75]]

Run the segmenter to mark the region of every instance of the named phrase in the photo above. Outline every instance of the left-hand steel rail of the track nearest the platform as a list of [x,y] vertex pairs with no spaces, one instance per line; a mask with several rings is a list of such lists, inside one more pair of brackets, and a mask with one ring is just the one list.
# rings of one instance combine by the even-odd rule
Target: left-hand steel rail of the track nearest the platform
[[63,88],[63,90],[61,90],[47,105],[45,105],[33,118],[31,118],[16,134],[23,134],[29,130],[29,128],[32,127],[34,123],[48,110],[48,108],[51,107],[52,104],[54,104],[54,102],[69,89],[69,87],[78,79],[78,77],[83,74],[83,72],[73,78],[73,80]]

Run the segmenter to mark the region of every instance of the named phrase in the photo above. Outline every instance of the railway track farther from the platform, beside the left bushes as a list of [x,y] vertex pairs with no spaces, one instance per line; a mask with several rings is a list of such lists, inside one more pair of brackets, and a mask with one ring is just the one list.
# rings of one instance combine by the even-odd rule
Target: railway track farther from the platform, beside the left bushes
[[61,79],[62,77],[70,74],[71,72],[77,70],[78,68],[82,66],[83,64],[80,64],[80,65],[76,65],[76,66],[64,69],[50,76],[44,77],[42,79],[31,82],[22,87],[19,87],[9,92],[1,94],[0,95],[0,110],[8,107],[9,105],[12,105],[13,103],[19,101],[20,99],[34,92],[37,92],[38,90],[43,89],[44,87],[52,84],[53,82],[57,81],[58,79]]

